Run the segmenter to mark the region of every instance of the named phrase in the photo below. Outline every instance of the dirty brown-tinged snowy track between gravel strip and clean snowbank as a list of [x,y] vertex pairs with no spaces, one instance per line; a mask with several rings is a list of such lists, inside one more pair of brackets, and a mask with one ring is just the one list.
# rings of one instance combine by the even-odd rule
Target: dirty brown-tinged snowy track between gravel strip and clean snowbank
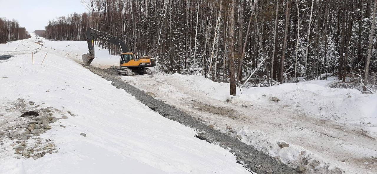
[[[202,85],[202,89],[198,89],[192,79],[187,79],[190,77],[162,73],[123,77],[130,84],[153,92],[156,99],[177,106],[216,129],[228,132],[227,126],[230,126],[237,131],[233,136],[238,134],[243,142],[293,167],[309,163],[314,173],[339,173],[342,170],[347,173],[377,172],[376,140],[365,134],[359,125],[320,119],[278,106],[272,101],[264,106],[227,103],[219,97],[221,92],[218,95],[208,94],[210,88],[216,88],[204,85],[210,82],[198,80]],[[290,146],[280,148],[278,142],[286,142]]]

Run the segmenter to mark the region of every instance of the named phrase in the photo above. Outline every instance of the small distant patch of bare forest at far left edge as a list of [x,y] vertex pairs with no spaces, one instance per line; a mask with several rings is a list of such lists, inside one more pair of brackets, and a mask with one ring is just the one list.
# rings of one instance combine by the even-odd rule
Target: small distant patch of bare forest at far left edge
[[17,20],[7,20],[0,18],[0,43],[6,43],[9,40],[20,40],[30,38],[29,32],[25,27],[20,27]]

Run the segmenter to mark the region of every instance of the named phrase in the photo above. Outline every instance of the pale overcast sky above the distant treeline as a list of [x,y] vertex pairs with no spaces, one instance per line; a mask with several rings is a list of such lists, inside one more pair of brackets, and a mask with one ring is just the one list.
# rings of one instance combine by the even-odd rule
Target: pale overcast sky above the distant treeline
[[0,17],[17,20],[29,32],[44,30],[56,17],[86,11],[81,0],[0,0]]

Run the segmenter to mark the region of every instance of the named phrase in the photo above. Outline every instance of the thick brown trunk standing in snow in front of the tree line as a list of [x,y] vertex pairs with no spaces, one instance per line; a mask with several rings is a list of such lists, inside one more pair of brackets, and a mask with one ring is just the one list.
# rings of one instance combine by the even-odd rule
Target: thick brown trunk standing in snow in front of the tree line
[[230,0],[229,6],[229,84],[230,95],[236,95],[236,74],[234,72],[234,0]]

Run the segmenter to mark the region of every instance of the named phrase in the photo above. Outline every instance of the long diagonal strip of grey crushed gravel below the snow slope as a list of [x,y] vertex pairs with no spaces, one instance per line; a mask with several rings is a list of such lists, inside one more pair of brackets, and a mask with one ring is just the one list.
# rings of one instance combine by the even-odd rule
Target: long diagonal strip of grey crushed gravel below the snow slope
[[111,69],[100,69],[93,66],[86,68],[93,73],[102,76],[104,79],[111,81],[112,85],[116,88],[124,89],[137,100],[144,105],[147,105],[153,111],[158,112],[160,115],[195,129],[198,132],[196,137],[199,139],[205,140],[209,143],[216,143],[222,148],[228,149],[236,156],[238,163],[241,163],[253,172],[280,174],[297,173],[296,169],[280,163],[264,152],[258,151],[253,146],[242,143],[234,137],[230,137],[225,133],[219,132],[210,126],[205,125],[189,114],[186,114],[173,106],[167,105],[160,100],[154,99],[152,96],[147,95],[145,92],[121,80],[121,76],[117,75],[116,72]]

